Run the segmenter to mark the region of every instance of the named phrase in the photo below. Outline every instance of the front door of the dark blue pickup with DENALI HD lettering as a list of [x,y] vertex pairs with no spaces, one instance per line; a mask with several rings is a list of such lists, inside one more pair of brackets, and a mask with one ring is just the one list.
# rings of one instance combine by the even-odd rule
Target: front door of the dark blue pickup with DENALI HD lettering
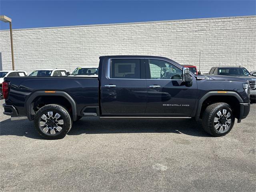
[[190,116],[196,102],[197,84],[182,82],[182,69],[166,60],[145,59],[148,90],[146,114]]

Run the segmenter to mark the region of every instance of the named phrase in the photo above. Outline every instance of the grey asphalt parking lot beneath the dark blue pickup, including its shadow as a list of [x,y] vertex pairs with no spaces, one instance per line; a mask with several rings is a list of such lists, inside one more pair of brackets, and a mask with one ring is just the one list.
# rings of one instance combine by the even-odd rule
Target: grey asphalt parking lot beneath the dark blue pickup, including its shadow
[[[3,100],[0,102],[2,106]],[[255,191],[256,104],[224,137],[192,120],[82,118],[41,139],[0,107],[0,190]]]

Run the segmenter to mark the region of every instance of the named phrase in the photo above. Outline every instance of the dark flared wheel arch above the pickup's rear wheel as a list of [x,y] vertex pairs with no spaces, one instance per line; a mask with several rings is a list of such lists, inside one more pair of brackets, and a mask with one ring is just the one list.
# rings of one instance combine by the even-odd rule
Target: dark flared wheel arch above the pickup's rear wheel
[[[72,108],[72,119],[74,121],[77,120],[77,110],[76,110],[76,102],[74,99],[67,94],[66,92],[63,91],[54,91],[54,92],[46,92],[46,91],[36,91],[33,92],[25,101],[25,110],[26,110],[26,115],[29,120],[33,120],[35,112],[34,112],[34,100],[40,96],[59,96],[67,100]],[[56,104],[56,103],[52,103]]]

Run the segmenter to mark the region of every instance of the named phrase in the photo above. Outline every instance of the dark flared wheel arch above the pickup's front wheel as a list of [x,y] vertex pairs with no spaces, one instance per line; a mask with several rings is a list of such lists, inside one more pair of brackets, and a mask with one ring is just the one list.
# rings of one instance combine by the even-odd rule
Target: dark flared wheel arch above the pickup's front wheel
[[[240,103],[243,103],[244,101],[242,100],[242,98],[238,95],[238,93],[233,92],[233,91],[210,91],[207,92],[204,96],[202,96],[199,100],[198,100],[198,104],[197,104],[197,110],[196,110],[196,120],[199,120],[202,110],[203,108],[203,104],[204,102],[206,102],[207,100],[209,100],[211,97],[215,96],[216,97],[216,101],[218,102],[225,102],[227,99],[234,99],[237,101],[237,107],[240,105]],[[218,99],[217,99],[218,98]],[[240,106],[238,108],[238,114],[236,115],[237,117],[240,114]]]

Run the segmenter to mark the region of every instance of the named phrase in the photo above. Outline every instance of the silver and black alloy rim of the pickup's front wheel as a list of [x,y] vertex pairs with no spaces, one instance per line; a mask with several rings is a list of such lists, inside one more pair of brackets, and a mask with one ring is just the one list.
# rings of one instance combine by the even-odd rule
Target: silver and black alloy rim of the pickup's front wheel
[[226,109],[217,112],[214,117],[214,128],[219,132],[226,132],[230,128],[231,114]]

